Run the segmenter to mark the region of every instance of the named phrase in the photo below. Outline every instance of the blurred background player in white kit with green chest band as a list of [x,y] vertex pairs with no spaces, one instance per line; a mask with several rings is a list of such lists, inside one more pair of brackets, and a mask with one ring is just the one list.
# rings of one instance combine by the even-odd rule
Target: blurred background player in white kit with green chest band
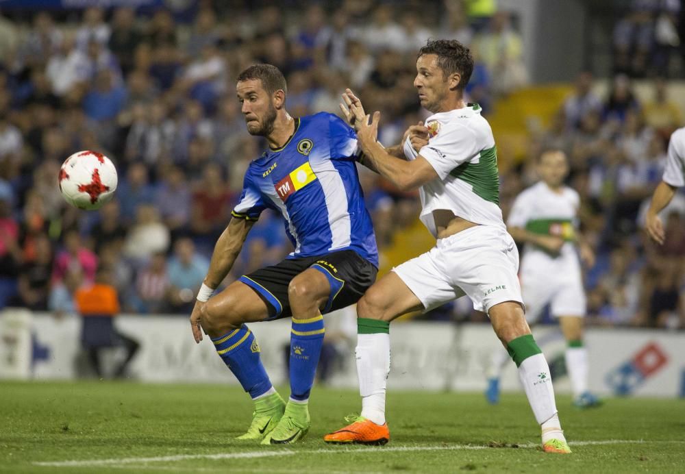
[[[519,274],[525,317],[529,324],[536,323],[549,305],[567,342],[573,404],[588,408],[601,402],[588,391],[588,356],[583,345],[586,297],[576,246],[587,266],[594,264],[595,254],[578,230],[580,196],[564,185],[568,173],[563,151],[543,152],[538,159],[540,182],[516,197],[507,227],[514,240],[525,245]],[[485,392],[490,403],[499,401],[499,377],[507,359],[505,351],[493,353]]]

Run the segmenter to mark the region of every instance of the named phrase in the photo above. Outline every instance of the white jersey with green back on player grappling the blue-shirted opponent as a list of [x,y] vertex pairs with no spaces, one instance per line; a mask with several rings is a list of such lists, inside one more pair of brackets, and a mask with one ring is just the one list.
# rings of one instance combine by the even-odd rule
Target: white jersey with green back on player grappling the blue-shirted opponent
[[476,224],[506,229],[499,208],[497,148],[490,124],[478,104],[429,116],[428,144],[417,153],[409,138],[404,143],[408,160],[421,155],[440,179],[421,186],[421,222],[438,235],[434,210],[450,210]]

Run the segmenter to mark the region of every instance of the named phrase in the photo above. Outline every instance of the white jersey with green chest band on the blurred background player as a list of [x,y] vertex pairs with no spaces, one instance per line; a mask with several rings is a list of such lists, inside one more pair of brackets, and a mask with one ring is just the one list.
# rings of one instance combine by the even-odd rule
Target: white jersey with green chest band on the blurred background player
[[[509,212],[507,225],[521,227],[533,234],[562,237],[566,242],[558,255],[551,255],[545,249],[527,243],[521,258],[521,273],[543,271],[554,273],[580,273],[580,262],[575,249],[578,226],[580,195],[564,186],[561,192],[554,192],[544,182],[538,182],[519,194]],[[555,271],[550,272],[550,266]]]

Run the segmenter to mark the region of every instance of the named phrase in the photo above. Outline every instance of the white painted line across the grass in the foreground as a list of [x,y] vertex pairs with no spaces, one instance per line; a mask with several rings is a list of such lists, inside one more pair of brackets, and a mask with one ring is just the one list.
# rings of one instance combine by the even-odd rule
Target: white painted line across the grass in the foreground
[[[680,440],[597,440],[597,441],[572,441],[569,445],[573,446],[601,446],[601,445],[640,445],[649,444],[649,442],[658,442],[660,444],[685,444],[685,441]],[[523,449],[530,449],[540,446],[538,443],[522,443],[516,444],[516,447]],[[512,445],[507,445],[511,449]],[[342,446],[337,449],[304,449],[295,451],[291,449],[282,449],[280,451],[248,451],[245,453],[218,453],[218,454],[179,454],[176,456],[158,456],[155,458],[119,458],[119,459],[95,459],[95,460],[73,460],[73,461],[41,461],[34,462],[36,466],[50,466],[50,467],[85,467],[85,466],[108,466],[118,464],[140,464],[146,462],[174,462],[192,459],[251,459],[251,458],[267,458],[269,456],[292,456],[294,454],[325,454],[325,453],[388,453],[392,451],[457,451],[457,450],[471,450],[471,449],[497,449],[497,447],[490,447],[484,445],[451,445],[451,446],[390,446],[390,447],[347,447]]]

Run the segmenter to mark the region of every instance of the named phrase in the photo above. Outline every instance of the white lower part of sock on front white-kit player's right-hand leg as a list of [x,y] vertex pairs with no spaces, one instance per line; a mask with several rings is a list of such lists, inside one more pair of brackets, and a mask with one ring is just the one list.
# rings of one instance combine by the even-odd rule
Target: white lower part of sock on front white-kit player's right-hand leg
[[549,365],[542,353],[530,356],[519,365],[519,378],[538,424],[542,425],[557,412]]

